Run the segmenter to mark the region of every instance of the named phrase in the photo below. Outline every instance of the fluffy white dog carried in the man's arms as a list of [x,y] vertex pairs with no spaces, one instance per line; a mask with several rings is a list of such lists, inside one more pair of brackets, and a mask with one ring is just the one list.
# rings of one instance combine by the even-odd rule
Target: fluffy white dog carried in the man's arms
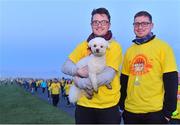
[[[101,73],[106,66],[105,53],[109,47],[108,41],[104,38],[96,37],[89,41],[88,46],[91,48],[92,54],[81,59],[76,66],[82,68],[88,66],[88,75],[92,83],[92,87],[95,92],[98,92],[97,85],[97,74]],[[111,89],[111,85],[106,85],[107,88]],[[75,85],[71,86],[69,91],[69,100],[75,103],[82,95],[82,90]]]

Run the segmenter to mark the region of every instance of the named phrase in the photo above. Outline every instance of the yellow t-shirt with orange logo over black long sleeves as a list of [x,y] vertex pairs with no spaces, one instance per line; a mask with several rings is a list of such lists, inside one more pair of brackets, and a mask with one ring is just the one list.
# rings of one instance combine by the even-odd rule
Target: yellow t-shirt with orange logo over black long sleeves
[[163,73],[177,71],[171,47],[154,38],[142,45],[133,44],[126,52],[122,73],[129,76],[125,109],[133,113],[162,110]]

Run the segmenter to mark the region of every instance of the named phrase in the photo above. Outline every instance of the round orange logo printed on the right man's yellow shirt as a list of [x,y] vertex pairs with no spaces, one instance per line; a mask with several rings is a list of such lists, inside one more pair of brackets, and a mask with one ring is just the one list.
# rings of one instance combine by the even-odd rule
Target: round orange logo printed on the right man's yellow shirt
[[130,65],[130,73],[133,75],[143,75],[150,71],[152,63],[143,54],[135,56]]

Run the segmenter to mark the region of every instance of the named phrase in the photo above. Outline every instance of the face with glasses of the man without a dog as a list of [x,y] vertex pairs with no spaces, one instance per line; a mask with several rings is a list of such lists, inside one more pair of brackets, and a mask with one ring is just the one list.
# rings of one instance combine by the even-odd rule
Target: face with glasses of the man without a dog
[[134,33],[139,38],[147,36],[153,28],[153,23],[149,20],[147,16],[136,17],[133,25]]

